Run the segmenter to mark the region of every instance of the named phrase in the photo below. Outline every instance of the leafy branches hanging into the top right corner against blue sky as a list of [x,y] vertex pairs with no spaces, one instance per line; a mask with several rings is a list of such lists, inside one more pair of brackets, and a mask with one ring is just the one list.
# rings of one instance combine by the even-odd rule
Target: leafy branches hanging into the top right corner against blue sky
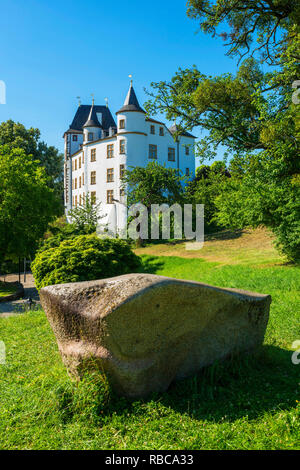
[[[238,55],[240,61],[260,52],[274,65],[297,34],[293,25],[299,24],[300,6],[297,0],[189,0],[187,14],[200,22],[203,32],[228,41],[228,55]],[[226,23],[229,30],[224,31]],[[218,27],[223,31],[217,33]]]

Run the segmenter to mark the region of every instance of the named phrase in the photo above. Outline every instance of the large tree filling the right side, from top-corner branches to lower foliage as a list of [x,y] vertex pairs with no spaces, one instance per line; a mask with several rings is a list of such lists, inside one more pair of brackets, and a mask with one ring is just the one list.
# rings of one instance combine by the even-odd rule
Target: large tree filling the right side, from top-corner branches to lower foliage
[[[202,30],[215,35],[217,27],[227,26],[228,54],[241,59],[246,52],[248,58],[235,76],[179,69],[170,81],[151,84],[146,104],[183,129],[204,129],[200,157],[215,158],[225,146],[232,178],[224,180],[216,199],[219,222],[266,225],[293,260],[300,257],[299,119],[293,99],[300,76],[299,12],[299,3],[287,0],[190,0],[188,14],[200,19]],[[251,49],[251,41],[257,47]],[[258,50],[276,68],[262,72],[251,57]]]

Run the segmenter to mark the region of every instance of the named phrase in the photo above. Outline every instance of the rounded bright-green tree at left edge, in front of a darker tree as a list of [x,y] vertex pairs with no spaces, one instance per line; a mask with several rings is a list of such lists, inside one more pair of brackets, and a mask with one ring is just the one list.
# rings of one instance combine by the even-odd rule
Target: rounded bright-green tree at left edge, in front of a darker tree
[[0,146],[0,259],[34,252],[58,207],[44,168],[22,149]]

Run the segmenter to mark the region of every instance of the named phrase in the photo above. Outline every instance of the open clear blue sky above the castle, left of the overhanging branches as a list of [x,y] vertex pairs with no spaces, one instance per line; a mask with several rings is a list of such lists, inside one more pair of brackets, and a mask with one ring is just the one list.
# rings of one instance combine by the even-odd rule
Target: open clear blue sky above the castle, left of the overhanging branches
[[151,81],[196,64],[205,74],[236,71],[221,39],[200,33],[184,0],[0,0],[0,80],[7,103],[0,121],[38,127],[63,150],[77,108],[109,99],[115,113],[133,75],[140,103]]

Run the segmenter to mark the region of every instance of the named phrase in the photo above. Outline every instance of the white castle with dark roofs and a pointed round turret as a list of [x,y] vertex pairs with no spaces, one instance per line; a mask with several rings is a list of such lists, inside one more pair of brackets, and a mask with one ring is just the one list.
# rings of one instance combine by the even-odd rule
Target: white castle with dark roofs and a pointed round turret
[[174,139],[176,125],[148,118],[130,83],[115,123],[107,106],[79,105],[65,140],[65,210],[81,205],[86,194],[101,202],[111,230],[124,228],[126,209],[122,177],[126,168],[151,161],[195,174],[194,139],[184,132]]

